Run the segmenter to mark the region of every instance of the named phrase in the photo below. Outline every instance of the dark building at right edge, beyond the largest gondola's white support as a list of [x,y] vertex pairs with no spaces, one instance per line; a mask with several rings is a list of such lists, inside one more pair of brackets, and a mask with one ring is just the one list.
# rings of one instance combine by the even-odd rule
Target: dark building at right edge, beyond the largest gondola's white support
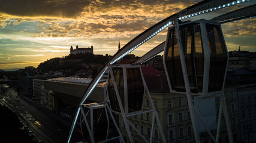
[[230,122],[240,129],[236,136],[243,142],[256,141],[256,71],[246,68],[228,71],[225,83],[225,95]]

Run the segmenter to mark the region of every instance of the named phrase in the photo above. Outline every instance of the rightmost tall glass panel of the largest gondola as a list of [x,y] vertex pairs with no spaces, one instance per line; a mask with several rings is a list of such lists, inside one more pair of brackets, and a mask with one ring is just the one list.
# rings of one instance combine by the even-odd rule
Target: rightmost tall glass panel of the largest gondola
[[221,91],[227,66],[227,50],[219,26],[206,24],[210,51],[208,92]]

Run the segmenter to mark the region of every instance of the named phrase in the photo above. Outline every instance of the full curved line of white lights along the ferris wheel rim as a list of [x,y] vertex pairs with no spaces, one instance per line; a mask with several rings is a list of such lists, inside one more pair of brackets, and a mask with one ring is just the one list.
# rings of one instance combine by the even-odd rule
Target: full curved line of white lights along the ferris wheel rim
[[[168,17],[170,20],[167,21],[167,23],[164,24],[164,26],[162,26],[161,28],[159,28],[158,30],[155,30],[155,32],[153,33],[150,33],[149,35],[147,35],[147,38],[144,38],[141,42],[138,42],[137,45],[133,46],[132,48],[130,49],[125,49],[126,52],[124,52],[123,54],[121,54],[120,56],[118,56],[117,58],[115,58],[115,55],[118,55],[119,53],[115,54],[113,56],[113,58],[115,60],[110,60],[110,63],[107,63],[106,66],[103,67],[103,69],[101,69],[100,73],[97,74],[97,76],[95,77],[95,79],[93,79],[91,81],[91,83],[89,84],[88,86],[88,89],[86,89],[86,92],[85,94],[83,95],[83,98],[82,98],[82,101],[80,102],[79,104],[79,108],[77,109],[77,112],[76,112],[76,115],[74,116],[75,118],[73,119],[73,123],[71,125],[71,130],[70,130],[70,134],[68,136],[68,141],[67,142],[70,142],[71,140],[71,136],[73,134],[73,131],[74,131],[74,127],[76,125],[76,122],[77,122],[77,118],[80,114],[80,106],[86,101],[86,99],[89,97],[89,95],[91,95],[92,91],[94,90],[94,88],[97,86],[98,82],[100,81],[100,79],[103,77],[104,73],[109,69],[109,65],[112,65],[114,63],[116,63],[116,61],[118,60],[121,60],[121,58],[125,57],[125,55],[129,54],[130,52],[134,51],[134,49],[138,48],[138,46],[142,45],[144,42],[147,42],[149,39],[153,38],[153,36],[157,35],[159,32],[161,32],[162,30],[164,30],[165,28],[167,28],[168,26],[170,26],[171,24],[173,24],[173,20],[174,18],[177,18],[179,20],[183,20],[185,18],[190,18],[190,17],[195,17],[197,15],[200,15],[200,14],[204,14],[204,13],[209,13],[209,12],[212,12],[212,11],[216,11],[216,10],[220,10],[222,8],[225,8],[225,7],[230,7],[230,6],[233,6],[233,5],[237,5],[237,4],[240,4],[240,3],[243,3],[243,2],[247,2],[249,0],[238,0],[238,1],[233,1],[233,2],[228,2],[227,4],[222,4],[222,5],[219,5],[218,7],[213,7],[213,8],[208,8],[207,10],[202,10],[202,11],[199,11],[197,13],[192,13],[192,14],[188,14],[188,15],[184,15],[182,17],[177,17],[175,14],[174,14],[174,17],[172,17],[173,15],[171,15],[170,17]],[[204,2],[204,1],[203,1]],[[254,16],[255,17],[255,16]],[[172,18],[172,19],[171,19]],[[167,18],[165,18],[166,20]],[[164,21],[164,20],[163,20]],[[162,23],[162,21],[160,21],[158,24]],[[156,24],[155,26],[158,26],[158,24]],[[154,27],[154,26],[152,26]],[[151,29],[152,27],[150,27],[149,29]],[[152,30],[152,29],[151,29]],[[147,30],[146,30],[147,31]],[[146,32],[145,31],[145,32]],[[142,34],[142,33],[141,33]],[[144,33],[143,34],[147,34],[147,33]],[[140,36],[132,39],[132,41],[134,40],[137,40],[139,39]],[[130,42],[129,42],[130,43]],[[128,45],[129,45],[128,43]],[[126,45],[125,45],[126,46]],[[123,48],[127,48],[127,47],[123,47]],[[122,49],[123,49],[122,48]],[[121,49],[121,52],[122,52],[122,49]],[[156,54],[157,55],[157,54]],[[155,57],[156,55],[153,55],[153,57]],[[150,59],[152,59],[153,57],[150,57]],[[147,59],[150,60],[150,59]],[[146,61],[144,61],[146,62]],[[144,63],[143,62],[143,63]],[[91,85],[92,84],[92,85]]]

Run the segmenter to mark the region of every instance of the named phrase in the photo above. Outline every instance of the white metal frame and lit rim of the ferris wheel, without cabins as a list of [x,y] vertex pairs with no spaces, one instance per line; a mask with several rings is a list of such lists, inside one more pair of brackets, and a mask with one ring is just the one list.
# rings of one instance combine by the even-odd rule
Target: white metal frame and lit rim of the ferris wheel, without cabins
[[[195,101],[209,99],[209,98],[218,97],[218,96],[221,97],[221,102],[220,102],[220,108],[219,108],[220,110],[219,110],[219,113],[218,113],[219,117],[218,117],[216,138],[214,138],[214,136],[212,135],[210,130],[207,128],[207,125],[203,122],[203,120],[200,118],[200,116],[198,116],[198,117],[199,117],[199,120],[201,120],[201,122],[203,123],[203,126],[206,128],[207,133],[209,133],[210,138],[212,138],[213,142],[218,142],[219,132],[220,132],[219,130],[220,130],[220,126],[221,126],[221,114],[222,114],[222,111],[223,111],[224,112],[224,117],[225,117],[225,123],[227,125],[228,138],[229,138],[230,142],[233,142],[230,121],[229,121],[228,113],[227,113],[227,105],[225,103],[225,97],[224,97],[224,94],[223,94],[224,84],[222,84],[222,88],[218,92],[208,92],[206,90],[206,89],[208,89],[208,87],[203,89],[204,91],[197,92],[197,93],[193,93],[191,91],[191,85],[189,85],[188,70],[186,69],[186,60],[185,60],[185,57],[184,57],[184,51],[183,51],[183,45],[182,45],[182,40],[183,39],[181,37],[182,35],[180,34],[180,21],[186,20],[187,18],[196,17],[198,15],[203,15],[203,14],[206,14],[206,13],[212,13],[214,11],[222,10],[224,8],[231,7],[233,5],[239,5],[239,4],[248,2],[248,1],[249,0],[236,0],[236,1],[206,0],[206,1],[198,2],[197,4],[192,5],[191,7],[185,8],[185,10],[182,10],[179,13],[173,14],[173,15],[165,18],[164,20],[160,21],[159,23],[156,23],[154,26],[145,30],[143,33],[141,33],[140,35],[138,35],[137,37],[132,39],[130,42],[128,42],[124,47],[122,47],[121,50],[119,50],[115,55],[113,55],[113,57],[99,71],[99,73],[97,74],[95,79],[93,79],[92,82],[89,84],[88,88],[85,91],[85,94],[82,97],[82,100],[80,101],[79,107],[76,111],[76,115],[74,116],[73,123],[71,125],[70,134],[68,136],[67,142],[71,141],[71,136],[73,134],[73,130],[75,128],[75,125],[76,125],[76,122],[77,122],[77,119],[78,119],[80,113],[82,113],[83,119],[86,121],[85,112],[83,111],[83,107],[85,105],[83,105],[83,104],[85,103],[87,98],[91,95],[92,91],[94,90],[95,86],[97,86],[98,82],[103,77],[104,73],[108,69],[110,69],[111,77],[114,77],[113,70],[112,70],[112,65],[115,64],[116,61],[121,60],[121,58],[123,58],[125,55],[134,51],[134,49],[138,48],[138,46],[143,45],[143,43],[149,41],[151,38],[153,38],[153,36],[157,35],[159,32],[166,29],[167,27],[169,27],[169,29],[170,29],[170,26],[174,26],[172,28],[174,28],[174,31],[176,32],[177,45],[179,47],[179,56],[180,56],[179,59],[180,59],[181,67],[182,67],[183,81],[184,81],[184,84],[185,84],[185,92],[182,92],[182,93],[186,93],[186,97],[188,99],[189,111],[190,111],[190,113],[193,113],[192,116],[191,116],[191,122],[192,122],[192,125],[193,125],[195,142],[199,143],[201,141],[200,141],[200,135],[197,131],[197,125],[196,125],[196,121],[195,121],[196,120],[195,117],[198,116],[198,112],[197,112],[197,110],[195,110],[195,107],[194,107],[193,103]],[[253,0],[251,0],[251,1],[253,1]],[[242,20],[244,18],[255,17],[255,15],[256,15],[255,8],[256,8],[256,5],[254,4],[254,5],[251,5],[249,7],[245,7],[245,8],[236,10],[236,11],[232,11],[230,13],[219,15],[218,17],[212,18],[211,21],[215,21],[215,22],[218,22],[218,23],[227,23],[227,22],[231,22],[231,21]],[[204,37],[204,38],[207,38],[207,35],[206,35],[206,32],[205,32],[206,29],[205,29],[205,26],[203,26],[203,24],[201,24],[201,30],[202,30],[201,36]],[[222,32],[221,32],[221,35],[222,35]],[[203,45],[207,45],[206,40],[203,40],[202,42],[203,42]],[[225,44],[225,42],[224,42],[224,44]],[[160,52],[166,50],[166,48],[167,48],[167,42],[162,42],[161,44],[159,44],[158,46],[153,48],[151,51],[149,51],[145,55],[143,55],[143,57],[141,57],[139,60],[137,60],[135,64],[140,64],[140,63],[143,63],[147,60],[150,60],[150,58],[152,58],[155,55],[159,54]],[[226,48],[226,46],[225,46],[225,48]],[[209,48],[208,48],[208,50],[209,50]],[[206,51],[206,52],[209,53],[209,51]],[[206,57],[206,58],[209,59],[209,57]],[[164,63],[165,63],[165,61],[164,61]],[[204,63],[204,64],[207,64],[207,63]],[[165,71],[166,71],[166,65],[165,65]],[[225,67],[225,71],[227,71],[227,67]],[[206,73],[206,74],[208,74],[208,76],[209,76],[209,73]],[[225,81],[225,79],[224,79],[224,81]],[[144,80],[143,80],[143,82],[144,82]],[[115,85],[115,90],[116,90],[116,82],[113,82],[113,83]],[[168,83],[169,83],[170,91],[171,92],[177,92],[177,91],[175,91],[171,88],[170,81],[168,81]],[[207,83],[207,82],[205,82],[205,83]],[[146,91],[147,91],[147,94],[149,95],[149,91],[148,91],[147,88],[146,88]],[[200,98],[194,98],[193,99],[192,95],[193,96],[197,95]],[[91,96],[94,96],[94,95],[91,95]],[[116,97],[119,98],[118,91],[116,91]],[[149,97],[150,97],[150,95],[149,95]],[[106,101],[108,101],[108,99],[106,99]],[[119,103],[119,106],[122,108],[122,103],[121,103],[120,99],[118,100],[118,103]],[[161,125],[159,124],[158,116],[155,113],[155,108],[153,107],[152,100],[150,100],[150,103],[152,104],[152,112],[154,114],[154,117],[155,117],[156,121],[158,122],[159,128],[161,128]],[[104,104],[105,104],[104,106],[107,107],[110,115],[112,115],[112,113],[109,109],[109,105],[108,105],[109,103],[106,102]],[[106,107],[104,107],[104,108],[106,108]],[[107,112],[107,110],[106,110],[106,112]],[[140,113],[143,113],[143,112],[140,112]],[[121,114],[122,114],[122,118],[125,122],[125,126],[128,130],[129,125],[131,125],[131,123],[129,123],[129,121],[127,120],[127,117],[131,116],[131,115],[138,114],[138,113],[128,115],[128,114],[125,114],[125,111],[121,111]],[[112,120],[113,120],[113,117],[112,117]],[[115,125],[116,125],[116,123],[115,123]],[[88,129],[90,128],[89,124],[86,125],[86,126],[87,126]],[[132,128],[134,128],[134,126],[132,126]],[[117,130],[119,130],[119,129],[117,129]],[[135,130],[138,132],[137,129],[135,129]],[[118,132],[119,132],[119,137],[118,138],[120,139],[121,142],[124,142],[124,139],[122,138],[120,130]],[[161,130],[160,130],[160,132],[161,132]],[[162,134],[162,139],[164,140],[164,142],[166,142],[163,133],[161,133],[161,134]],[[91,132],[90,136],[93,137],[92,132]],[[129,136],[130,142],[132,142],[132,136],[129,133],[128,133],[128,136]],[[143,136],[142,136],[142,138],[143,138]],[[91,140],[91,142],[94,142],[94,141]]]

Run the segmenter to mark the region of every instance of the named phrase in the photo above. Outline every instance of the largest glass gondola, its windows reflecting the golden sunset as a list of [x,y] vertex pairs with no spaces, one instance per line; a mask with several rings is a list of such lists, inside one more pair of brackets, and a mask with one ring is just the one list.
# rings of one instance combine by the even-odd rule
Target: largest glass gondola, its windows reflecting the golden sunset
[[[191,93],[206,95],[222,91],[228,53],[220,24],[197,20],[179,24],[179,30]],[[164,64],[170,91],[186,92],[174,27],[168,29]]]

